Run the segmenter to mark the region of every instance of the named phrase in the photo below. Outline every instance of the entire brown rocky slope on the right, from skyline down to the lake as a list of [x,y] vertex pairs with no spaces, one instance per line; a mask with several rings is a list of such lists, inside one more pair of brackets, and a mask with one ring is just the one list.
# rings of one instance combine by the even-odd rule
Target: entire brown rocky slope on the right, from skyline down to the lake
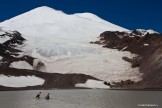
[[122,81],[118,83],[119,85],[137,89],[162,88],[162,34],[140,30],[131,32],[106,31],[100,35],[99,41],[91,43],[138,55],[133,59],[123,57],[123,60],[132,63],[132,68],[140,67],[140,72],[144,73],[142,81],[135,84],[125,84],[128,81]]

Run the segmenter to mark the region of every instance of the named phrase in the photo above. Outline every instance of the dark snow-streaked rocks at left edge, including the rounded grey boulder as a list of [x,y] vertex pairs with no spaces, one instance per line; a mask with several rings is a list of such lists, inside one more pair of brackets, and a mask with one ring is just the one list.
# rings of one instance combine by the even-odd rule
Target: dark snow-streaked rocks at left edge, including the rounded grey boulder
[[28,55],[21,55],[21,50],[17,49],[18,46],[21,46],[25,39],[22,37],[21,33],[18,31],[6,31],[0,29],[0,60],[1,67],[12,67],[11,63],[18,61],[25,61],[33,66],[34,70],[44,71],[45,65],[40,61],[34,63],[37,59]]

